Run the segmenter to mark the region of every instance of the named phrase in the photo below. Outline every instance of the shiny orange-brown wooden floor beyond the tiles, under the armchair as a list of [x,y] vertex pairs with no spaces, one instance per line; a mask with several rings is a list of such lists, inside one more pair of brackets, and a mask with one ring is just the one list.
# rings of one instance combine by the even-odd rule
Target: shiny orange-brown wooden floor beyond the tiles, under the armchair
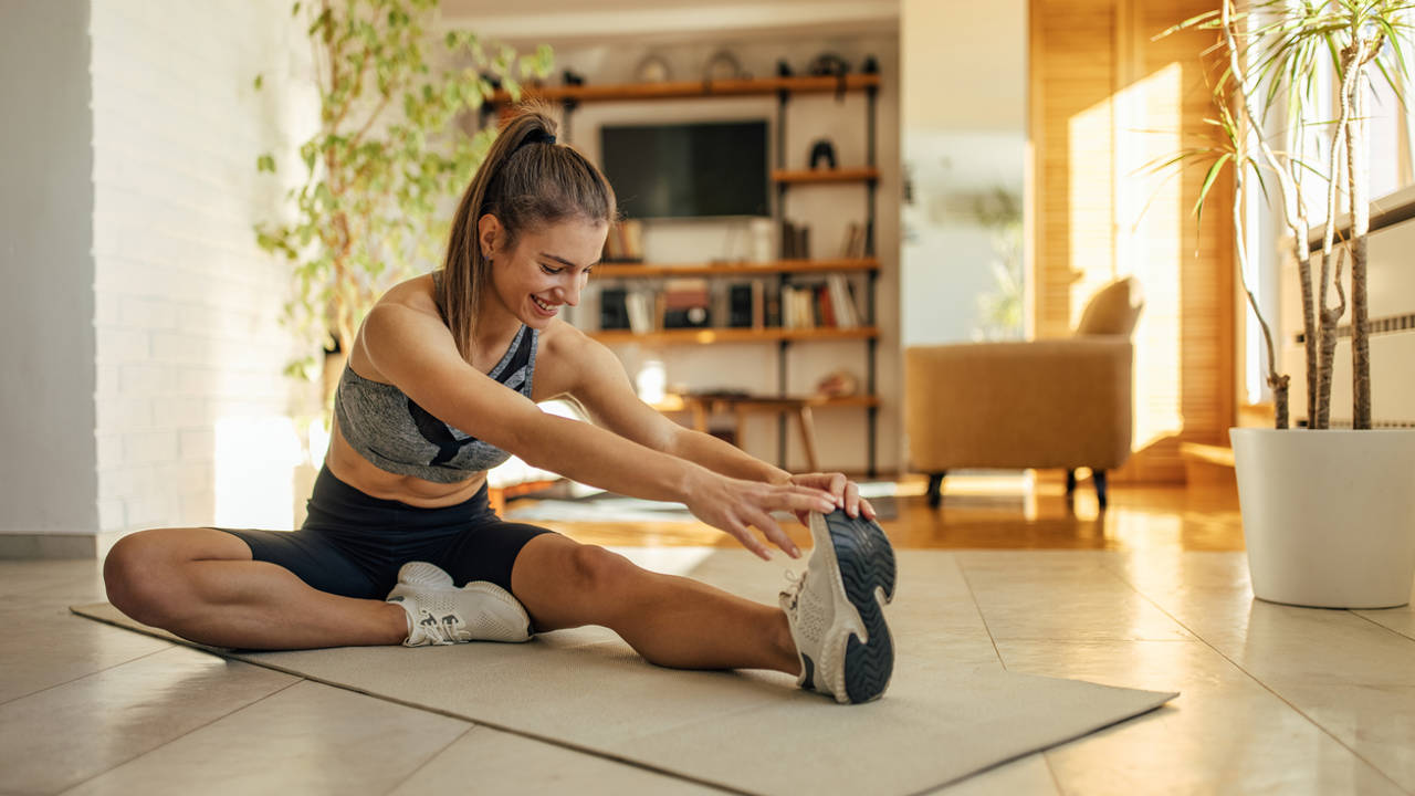
[[[1232,484],[1112,486],[1101,511],[1090,482],[1067,501],[1060,479],[961,476],[944,484],[944,503],[930,508],[925,480],[896,483],[897,517],[883,520],[896,548],[914,550],[1115,550],[1241,551],[1242,521]],[[514,504],[512,504],[514,506]],[[717,545],[736,540],[695,523],[545,523],[600,545]],[[792,523],[798,542],[809,534]]]

